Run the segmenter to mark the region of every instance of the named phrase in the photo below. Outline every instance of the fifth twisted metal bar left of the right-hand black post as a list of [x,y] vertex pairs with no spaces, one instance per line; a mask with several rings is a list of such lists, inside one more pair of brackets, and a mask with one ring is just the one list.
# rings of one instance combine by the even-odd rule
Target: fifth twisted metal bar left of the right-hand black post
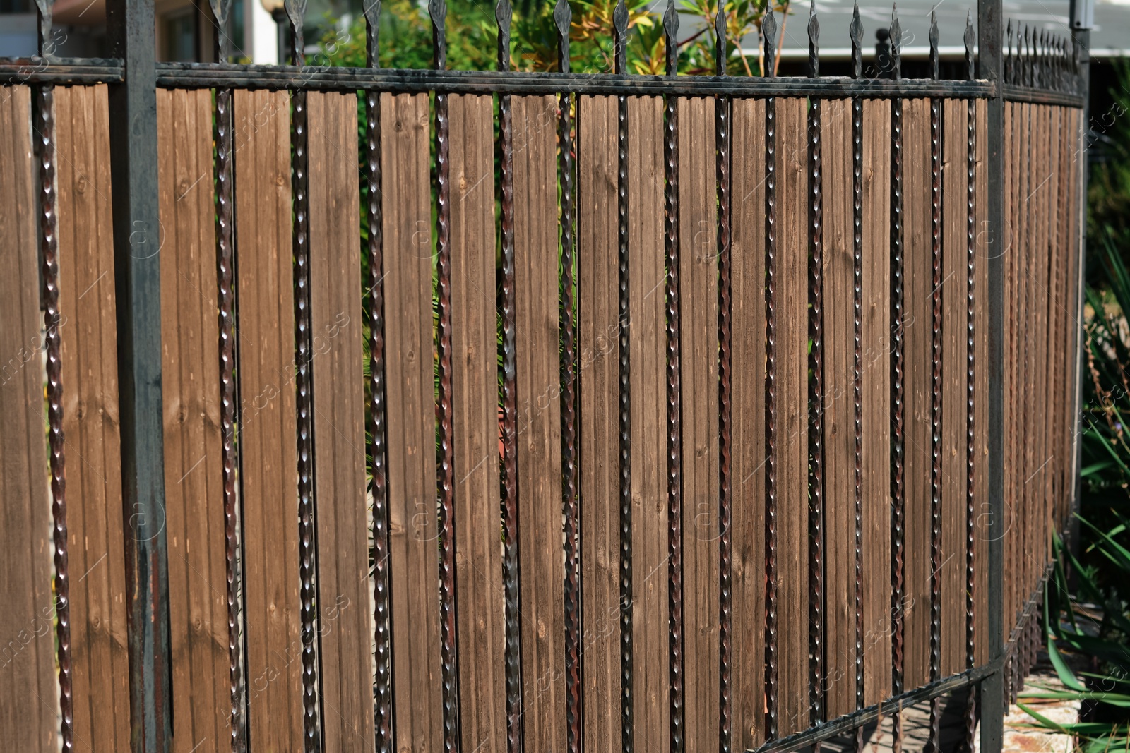
[[[819,78],[820,25],[815,0],[809,6],[809,77]],[[808,110],[808,246],[809,264],[809,501],[808,622],[810,723],[824,721],[824,199],[822,180],[820,99]]]

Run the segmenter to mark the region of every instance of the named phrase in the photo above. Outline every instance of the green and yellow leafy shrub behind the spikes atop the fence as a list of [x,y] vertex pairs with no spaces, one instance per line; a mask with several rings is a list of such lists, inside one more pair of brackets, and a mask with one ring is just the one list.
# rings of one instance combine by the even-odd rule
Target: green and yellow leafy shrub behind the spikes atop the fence
[[[680,0],[679,72],[712,75],[714,17],[719,0]],[[784,0],[733,0],[725,2],[727,72],[731,76],[762,76],[760,27],[765,9],[779,15],[779,43],[790,14]],[[661,14],[666,6],[655,0],[626,0],[628,10],[628,71],[640,75],[664,72],[667,45]],[[570,30],[570,60],[573,72],[599,73],[612,70],[612,10],[616,0],[571,0],[573,24]],[[365,64],[365,20],[328,23],[321,40],[319,60],[312,64],[362,67]],[[447,1],[447,67],[453,70],[493,70],[496,62],[497,29],[494,6],[476,0]],[[756,40],[758,53],[742,54]],[[748,47],[747,47],[748,50]],[[776,70],[779,59],[772,61]],[[431,68],[432,23],[424,3],[412,0],[385,0],[381,12],[382,68]],[[557,70],[557,29],[550,0],[519,0],[512,25],[511,68],[523,71]]]

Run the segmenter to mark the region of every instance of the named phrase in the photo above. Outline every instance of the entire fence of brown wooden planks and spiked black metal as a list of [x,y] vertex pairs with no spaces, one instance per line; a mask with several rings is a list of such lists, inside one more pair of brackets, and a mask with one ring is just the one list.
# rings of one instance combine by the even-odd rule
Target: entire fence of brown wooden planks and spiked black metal
[[447,71],[432,0],[434,70],[312,68],[287,9],[287,67],[155,63],[145,0],[0,62],[11,750],[898,750],[924,701],[939,750],[968,688],[999,751],[1075,497],[1078,40],[983,1],[911,80],[893,15],[872,79],[857,10],[822,78],[814,10],[808,78],[676,77],[669,2],[629,76],[621,2],[576,75],[563,0],[516,72],[502,0]]

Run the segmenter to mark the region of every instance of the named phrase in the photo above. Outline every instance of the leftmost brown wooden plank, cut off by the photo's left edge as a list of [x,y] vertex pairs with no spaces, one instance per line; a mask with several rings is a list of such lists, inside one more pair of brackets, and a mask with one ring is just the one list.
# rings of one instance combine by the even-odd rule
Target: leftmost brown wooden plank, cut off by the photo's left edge
[[[54,675],[54,603],[43,427],[43,315],[32,155],[32,97],[26,86],[0,97],[0,728],[11,750],[54,753],[59,694]],[[71,379],[77,375],[71,376]],[[80,458],[76,458],[81,463]]]

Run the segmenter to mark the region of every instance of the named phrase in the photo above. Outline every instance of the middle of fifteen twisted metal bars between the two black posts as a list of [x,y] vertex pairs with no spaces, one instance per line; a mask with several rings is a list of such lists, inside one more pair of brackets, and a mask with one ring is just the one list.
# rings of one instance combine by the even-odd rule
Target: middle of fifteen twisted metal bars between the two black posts
[[[679,16],[675,0],[667,0],[663,33],[667,42],[667,75],[675,76],[678,63],[676,34]],[[666,97],[663,113],[663,251],[667,255],[667,502],[668,502],[668,594],[670,601],[670,730],[671,753],[685,745],[683,698],[683,450],[679,445],[679,100]]]

